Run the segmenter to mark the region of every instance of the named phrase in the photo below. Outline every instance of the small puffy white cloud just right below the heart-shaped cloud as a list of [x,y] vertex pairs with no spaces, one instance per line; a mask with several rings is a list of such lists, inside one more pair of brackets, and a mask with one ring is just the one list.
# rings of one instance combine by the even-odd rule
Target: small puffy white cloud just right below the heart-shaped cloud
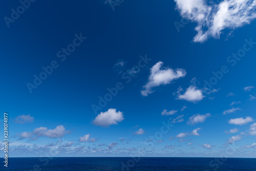
[[[180,89],[181,90],[181,89]],[[180,90],[178,90],[178,94],[180,92]],[[180,100],[187,100],[190,102],[196,102],[196,101],[201,101],[205,96],[202,93],[202,90],[197,89],[196,86],[189,86],[184,94],[180,94],[178,95],[177,99]]]

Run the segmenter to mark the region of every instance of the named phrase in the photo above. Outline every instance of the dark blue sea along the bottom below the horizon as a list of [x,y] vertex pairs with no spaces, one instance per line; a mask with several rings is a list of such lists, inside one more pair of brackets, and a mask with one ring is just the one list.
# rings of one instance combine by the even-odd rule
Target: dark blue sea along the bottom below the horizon
[[255,158],[54,157],[9,158],[1,170],[256,170]]

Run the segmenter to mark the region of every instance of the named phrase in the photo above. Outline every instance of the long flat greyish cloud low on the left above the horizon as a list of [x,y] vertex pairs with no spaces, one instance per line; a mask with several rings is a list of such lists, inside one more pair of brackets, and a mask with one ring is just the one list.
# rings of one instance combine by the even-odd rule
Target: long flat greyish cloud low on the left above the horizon
[[23,132],[20,134],[19,139],[31,138],[31,140],[35,140],[38,137],[60,138],[69,133],[70,131],[66,131],[63,125],[59,125],[53,130],[48,130],[47,127],[38,127],[33,132]]

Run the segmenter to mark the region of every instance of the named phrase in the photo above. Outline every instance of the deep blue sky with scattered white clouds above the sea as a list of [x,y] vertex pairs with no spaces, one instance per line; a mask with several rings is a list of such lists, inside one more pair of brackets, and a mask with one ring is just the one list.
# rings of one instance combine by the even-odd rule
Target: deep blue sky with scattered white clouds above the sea
[[9,155],[255,157],[255,1],[117,2],[4,2]]

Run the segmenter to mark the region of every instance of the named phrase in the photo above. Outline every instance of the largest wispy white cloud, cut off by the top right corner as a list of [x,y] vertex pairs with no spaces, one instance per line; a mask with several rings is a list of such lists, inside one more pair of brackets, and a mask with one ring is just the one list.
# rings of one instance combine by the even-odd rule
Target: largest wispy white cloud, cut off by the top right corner
[[194,42],[209,37],[219,38],[224,29],[236,29],[256,18],[254,0],[224,0],[220,3],[205,0],[175,0],[183,18],[197,23]]

